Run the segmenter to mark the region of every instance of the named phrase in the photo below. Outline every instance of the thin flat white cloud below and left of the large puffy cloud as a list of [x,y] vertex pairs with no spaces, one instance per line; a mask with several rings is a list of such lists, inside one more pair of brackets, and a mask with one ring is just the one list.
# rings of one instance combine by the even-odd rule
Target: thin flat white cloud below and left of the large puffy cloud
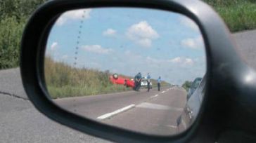
[[109,53],[113,52],[113,49],[103,48],[100,45],[87,45],[87,46],[82,46],[82,48],[91,53],[98,53],[98,54],[109,54]]

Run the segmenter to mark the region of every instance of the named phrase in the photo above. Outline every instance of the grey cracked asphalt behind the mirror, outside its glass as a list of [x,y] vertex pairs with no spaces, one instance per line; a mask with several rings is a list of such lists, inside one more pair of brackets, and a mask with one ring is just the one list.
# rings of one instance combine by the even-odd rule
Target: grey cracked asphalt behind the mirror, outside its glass
[[[232,36],[238,54],[250,67],[256,69],[256,30]],[[27,100],[17,68],[0,71],[0,142],[107,141],[55,123],[34,109]]]

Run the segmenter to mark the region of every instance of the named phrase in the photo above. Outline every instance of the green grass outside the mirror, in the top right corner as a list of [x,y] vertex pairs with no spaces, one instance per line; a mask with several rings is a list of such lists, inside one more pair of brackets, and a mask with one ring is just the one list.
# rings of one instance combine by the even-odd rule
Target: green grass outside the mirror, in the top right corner
[[224,19],[231,32],[256,29],[255,0],[204,0]]

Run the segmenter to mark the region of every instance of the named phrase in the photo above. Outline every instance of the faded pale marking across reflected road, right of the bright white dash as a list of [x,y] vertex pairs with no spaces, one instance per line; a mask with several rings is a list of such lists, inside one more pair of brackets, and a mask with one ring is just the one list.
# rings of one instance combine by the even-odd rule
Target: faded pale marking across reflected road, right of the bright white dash
[[168,107],[162,104],[153,104],[148,102],[143,102],[141,104],[136,105],[139,108],[146,108],[146,109],[158,109],[158,110],[174,110],[174,111],[183,111],[182,108],[175,108],[175,107]]

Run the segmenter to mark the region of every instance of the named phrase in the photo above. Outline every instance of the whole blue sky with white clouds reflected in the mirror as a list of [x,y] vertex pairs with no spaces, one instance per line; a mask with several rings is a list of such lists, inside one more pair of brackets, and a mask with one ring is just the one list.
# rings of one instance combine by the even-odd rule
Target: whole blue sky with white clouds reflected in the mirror
[[143,8],[69,11],[53,25],[46,54],[73,67],[143,76],[172,84],[205,74],[198,26],[184,15]]

